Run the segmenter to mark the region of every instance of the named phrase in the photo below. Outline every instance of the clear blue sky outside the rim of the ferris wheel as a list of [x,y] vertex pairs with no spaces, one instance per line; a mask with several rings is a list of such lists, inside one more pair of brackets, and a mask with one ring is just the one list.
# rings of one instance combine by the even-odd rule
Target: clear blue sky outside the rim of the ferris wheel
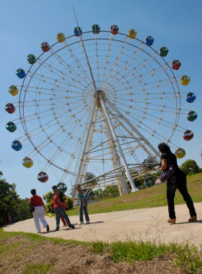
[[[15,71],[19,67],[28,68],[26,56],[41,53],[40,43],[56,42],[56,34],[64,32],[66,36],[73,33],[76,26],[72,3],[79,25],[83,31],[91,29],[97,23],[104,30],[112,24],[120,27],[120,32],[127,33],[130,28],[137,30],[137,37],[144,40],[147,35],[155,37],[154,48],[162,45],[169,48],[169,60],[179,59],[182,71],[191,77],[189,91],[197,96],[191,108],[198,114],[191,123],[194,139],[190,142],[182,140],[186,150],[186,159],[194,159],[202,166],[201,151],[201,11],[199,0],[190,4],[188,0],[149,1],[149,0],[102,0],[102,1],[28,1],[10,0],[1,3],[1,156],[0,170],[9,182],[17,184],[21,197],[29,196],[30,189],[36,188],[42,195],[50,190],[54,181],[41,184],[36,179],[36,169],[25,169],[21,157],[11,149],[14,135],[5,129],[9,114],[5,105],[12,101],[8,87],[17,82]],[[15,101],[15,100],[13,100]],[[187,123],[186,123],[187,124]]]

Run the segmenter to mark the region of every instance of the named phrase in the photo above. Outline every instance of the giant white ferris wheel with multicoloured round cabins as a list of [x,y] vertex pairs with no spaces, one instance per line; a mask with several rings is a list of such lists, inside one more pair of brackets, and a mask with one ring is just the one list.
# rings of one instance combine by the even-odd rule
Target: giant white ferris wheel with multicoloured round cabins
[[19,151],[29,141],[22,164],[32,167],[39,155],[39,181],[55,167],[61,183],[71,179],[89,190],[117,184],[124,194],[159,163],[160,142],[185,156],[174,141],[193,138],[182,122],[197,118],[182,108],[196,98],[186,89],[190,78],[179,74],[179,60],[166,61],[166,47],[155,50],[152,36],[142,41],[136,34],[117,25],[105,31],[94,24],[86,32],[77,26],[69,37],[58,33],[53,45],[42,42],[40,56],[27,56],[27,71],[17,69],[22,82],[9,93],[19,99],[5,107],[13,113],[6,128],[23,128],[11,147]]

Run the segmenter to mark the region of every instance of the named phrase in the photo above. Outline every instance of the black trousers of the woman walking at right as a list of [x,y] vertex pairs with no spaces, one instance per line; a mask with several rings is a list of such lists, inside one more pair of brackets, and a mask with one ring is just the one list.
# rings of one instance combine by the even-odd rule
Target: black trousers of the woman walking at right
[[189,209],[190,216],[191,217],[196,216],[193,201],[187,191],[186,175],[182,173],[179,176],[172,176],[167,181],[167,201],[168,201],[169,218],[170,219],[176,218],[174,198],[175,198],[175,192],[177,189],[181,193],[184,201],[186,202],[186,205]]

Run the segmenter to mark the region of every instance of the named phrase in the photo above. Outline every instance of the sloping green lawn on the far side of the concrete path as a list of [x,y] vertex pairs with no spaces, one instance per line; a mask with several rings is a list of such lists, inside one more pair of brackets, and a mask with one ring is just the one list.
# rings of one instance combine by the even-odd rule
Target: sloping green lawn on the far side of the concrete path
[[[202,173],[187,176],[187,187],[193,202],[202,202]],[[176,191],[175,204],[183,204],[184,200],[179,191]],[[166,184],[147,188],[116,198],[89,203],[88,213],[104,213],[127,209],[166,206]],[[69,216],[78,215],[78,207],[67,211]]]

